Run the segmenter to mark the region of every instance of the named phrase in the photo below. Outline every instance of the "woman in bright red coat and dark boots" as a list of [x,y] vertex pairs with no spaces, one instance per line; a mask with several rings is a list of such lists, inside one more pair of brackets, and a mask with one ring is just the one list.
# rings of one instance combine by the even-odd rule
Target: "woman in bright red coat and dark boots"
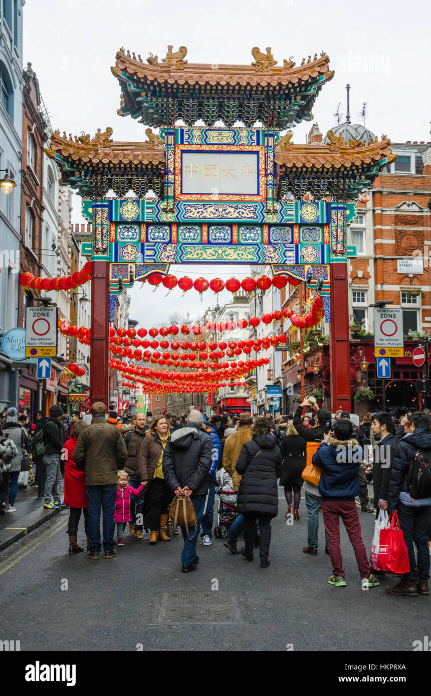
[[[85,473],[81,471],[73,461],[73,454],[81,430],[86,427],[83,420],[77,420],[70,431],[70,440],[65,441],[63,452],[65,454],[64,468],[64,502],[70,507],[69,514],[69,553],[80,553],[84,551],[82,546],[78,546],[77,533],[81,510],[84,512],[84,526],[87,533],[88,510],[86,487],[84,483]],[[87,539],[87,555],[89,555]]]

